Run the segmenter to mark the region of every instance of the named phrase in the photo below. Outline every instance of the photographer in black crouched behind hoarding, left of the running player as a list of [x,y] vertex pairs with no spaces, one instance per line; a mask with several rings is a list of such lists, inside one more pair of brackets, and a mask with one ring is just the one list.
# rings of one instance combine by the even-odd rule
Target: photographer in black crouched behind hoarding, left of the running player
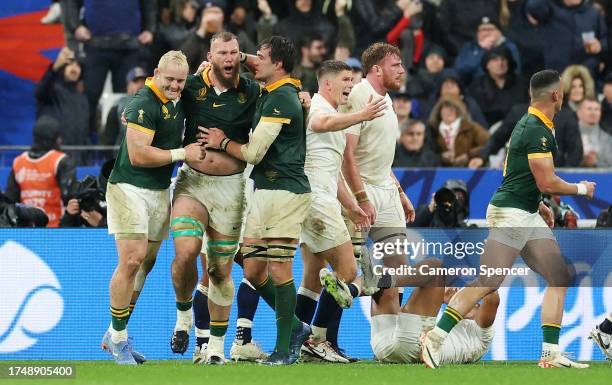
[[447,180],[435,192],[429,205],[420,205],[408,227],[467,227],[470,195],[460,179]]

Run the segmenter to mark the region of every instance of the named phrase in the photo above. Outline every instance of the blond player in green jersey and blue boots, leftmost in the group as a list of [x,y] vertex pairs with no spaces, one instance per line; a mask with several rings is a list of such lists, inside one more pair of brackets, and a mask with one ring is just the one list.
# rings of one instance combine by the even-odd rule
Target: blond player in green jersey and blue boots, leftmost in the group
[[112,322],[102,345],[118,364],[144,361],[132,349],[126,324],[134,292],[142,289],[168,235],[174,163],[196,162],[204,155],[199,143],[180,148],[184,129],[180,95],[188,68],[182,52],[166,53],[153,78],[130,100],[126,136],[108,181],[108,232],[115,234],[119,261],[110,282]]

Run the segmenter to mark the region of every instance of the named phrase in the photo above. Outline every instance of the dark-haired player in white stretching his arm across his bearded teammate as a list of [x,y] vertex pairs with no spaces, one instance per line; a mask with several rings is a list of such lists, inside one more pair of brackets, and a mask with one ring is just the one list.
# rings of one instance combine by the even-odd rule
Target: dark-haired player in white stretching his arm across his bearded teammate
[[[327,324],[336,310],[339,310],[339,305],[347,308],[353,297],[359,295],[358,286],[347,285],[356,277],[357,264],[342,217],[341,203],[349,219],[358,228],[369,226],[368,217],[348,194],[340,176],[346,143],[343,130],[381,117],[386,108],[385,100],[379,96],[371,97],[359,111],[338,113],[338,106],[347,102],[353,87],[352,76],[351,67],[342,61],[323,62],[317,74],[319,92],[312,98],[306,121],[304,171],[310,182],[312,203],[302,228],[304,275],[298,292],[296,315],[303,322],[310,323],[316,307],[316,297],[311,296],[309,299],[307,294],[318,295],[321,284],[325,284],[326,291],[321,296],[312,328],[313,335],[304,344],[302,351],[334,362],[348,360],[339,356],[326,341]],[[327,263],[333,267],[334,273],[322,270]],[[314,306],[309,306],[307,302],[312,302]]]

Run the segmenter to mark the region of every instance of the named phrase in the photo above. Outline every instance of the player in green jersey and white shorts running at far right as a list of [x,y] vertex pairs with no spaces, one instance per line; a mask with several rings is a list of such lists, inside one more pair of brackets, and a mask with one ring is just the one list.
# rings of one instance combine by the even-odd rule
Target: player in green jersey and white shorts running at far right
[[[554,226],[554,218],[542,202],[542,192],[592,198],[595,184],[567,183],[555,174],[553,159],[557,144],[552,119],[563,104],[559,74],[552,70],[537,72],[531,77],[529,94],[531,106],[510,138],[502,185],[487,208],[490,233],[480,264],[510,268],[520,254],[532,270],[542,275],[548,287],[542,299],[544,338],[538,366],[587,368],[587,364],[571,361],[559,349],[565,295],[573,277],[549,228]],[[437,326],[424,338],[421,354],[427,367],[440,366],[442,347],[449,333],[504,278],[504,275],[481,276],[473,287],[466,287],[452,298]]]

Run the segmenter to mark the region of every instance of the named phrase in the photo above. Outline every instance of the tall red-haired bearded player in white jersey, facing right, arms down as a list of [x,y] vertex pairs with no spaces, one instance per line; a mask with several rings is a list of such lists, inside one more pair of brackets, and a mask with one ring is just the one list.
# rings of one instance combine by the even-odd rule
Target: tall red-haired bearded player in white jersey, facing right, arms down
[[[342,174],[359,207],[368,215],[372,226],[370,238],[374,242],[401,241],[406,236],[406,221],[414,221],[415,212],[391,170],[399,123],[388,91],[399,90],[405,71],[399,49],[387,43],[372,44],[364,51],[361,61],[365,78],[353,87],[348,103],[340,111],[360,111],[372,97],[384,97],[387,107],[383,116],[347,130]],[[354,251],[359,257],[363,254],[365,235],[352,230]],[[361,260],[367,262],[368,258]],[[389,255],[383,260],[392,267],[399,267],[405,261],[401,255]],[[364,269],[366,284],[371,285],[367,273],[368,269]],[[377,278],[376,285],[381,288],[410,284],[405,282],[409,277]]]

